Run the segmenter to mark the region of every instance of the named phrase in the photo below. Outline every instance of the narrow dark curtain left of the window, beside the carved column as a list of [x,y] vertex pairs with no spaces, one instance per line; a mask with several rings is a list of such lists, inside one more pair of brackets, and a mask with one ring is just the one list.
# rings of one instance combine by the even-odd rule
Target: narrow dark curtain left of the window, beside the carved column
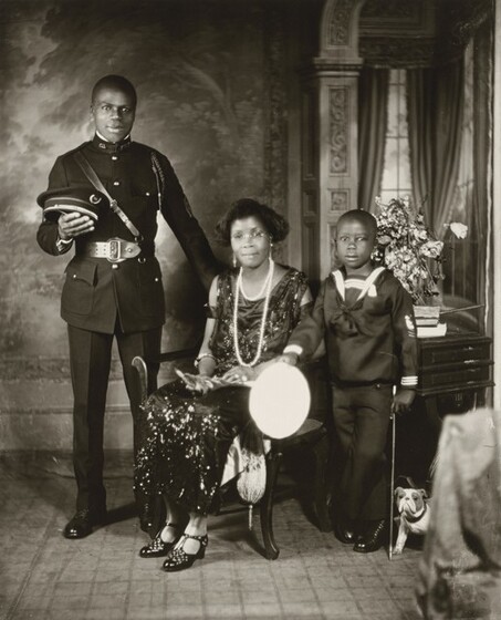
[[384,166],[388,69],[364,66],[358,79],[358,207],[374,211]]

